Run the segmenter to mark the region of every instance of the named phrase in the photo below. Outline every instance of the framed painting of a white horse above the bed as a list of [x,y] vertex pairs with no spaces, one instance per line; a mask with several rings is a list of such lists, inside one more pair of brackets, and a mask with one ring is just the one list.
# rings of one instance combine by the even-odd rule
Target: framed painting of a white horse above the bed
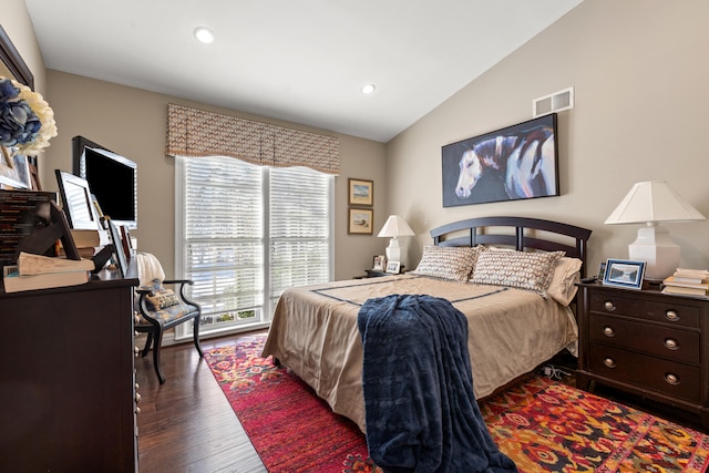
[[443,207],[558,196],[556,113],[444,145]]

